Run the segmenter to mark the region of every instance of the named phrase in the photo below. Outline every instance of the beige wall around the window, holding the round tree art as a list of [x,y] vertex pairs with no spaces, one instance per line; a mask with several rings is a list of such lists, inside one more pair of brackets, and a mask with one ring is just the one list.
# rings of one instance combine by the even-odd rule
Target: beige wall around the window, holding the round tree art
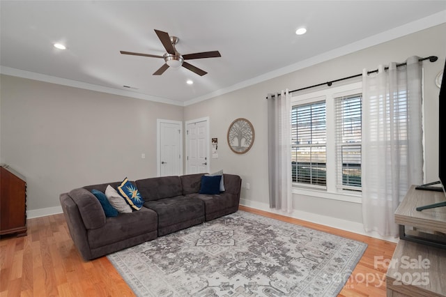
[[[438,88],[435,76],[445,64],[446,24],[410,34],[387,43],[369,47],[337,59],[325,61],[309,68],[276,77],[245,89],[226,93],[204,102],[185,107],[185,121],[209,116],[210,137],[219,139],[219,159],[211,160],[211,171],[240,174],[243,184],[242,198],[252,206],[268,204],[268,139],[266,96],[281,89],[299,89],[312,84],[328,82],[341,77],[362,73],[362,68],[374,70],[378,64],[402,62],[408,56],[438,56],[436,63],[425,61],[424,95],[426,103],[426,181],[438,180]],[[334,84],[335,85],[335,84]],[[238,117],[249,119],[254,125],[254,146],[245,155],[232,153],[226,144],[226,131],[231,121]],[[293,195],[295,210],[330,216],[339,220],[362,222],[361,204],[318,197]]]

